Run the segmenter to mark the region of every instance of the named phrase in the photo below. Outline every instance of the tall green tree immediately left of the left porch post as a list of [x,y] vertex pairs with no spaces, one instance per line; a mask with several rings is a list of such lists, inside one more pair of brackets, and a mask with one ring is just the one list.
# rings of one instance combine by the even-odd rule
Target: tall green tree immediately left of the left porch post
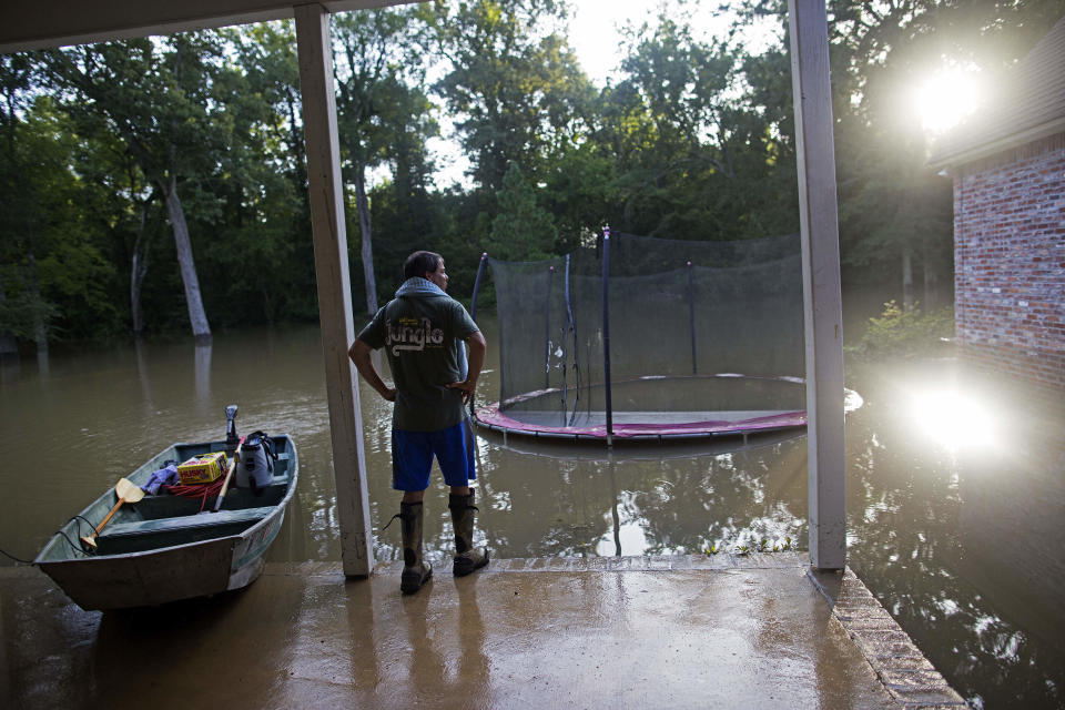
[[227,150],[210,185],[220,211],[201,231],[216,284],[215,318],[232,324],[316,317],[298,64],[292,22],[225,30],[230,61],[214,81]]

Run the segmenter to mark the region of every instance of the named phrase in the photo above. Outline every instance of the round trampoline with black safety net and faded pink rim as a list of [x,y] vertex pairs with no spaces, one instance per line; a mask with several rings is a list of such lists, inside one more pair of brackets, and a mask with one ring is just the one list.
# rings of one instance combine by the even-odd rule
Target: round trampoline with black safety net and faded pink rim
[[566,256],[490,270],[496,403],[484,429],[542,439],[669,440],[804,427],[798,234],[693,242],[609,230]]

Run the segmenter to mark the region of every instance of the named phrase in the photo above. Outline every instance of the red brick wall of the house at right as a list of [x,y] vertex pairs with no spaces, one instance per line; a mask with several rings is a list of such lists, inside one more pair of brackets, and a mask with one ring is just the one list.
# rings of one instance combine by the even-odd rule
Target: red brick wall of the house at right
[[963,352],[1065,388],[1065,133],[962,166],[954,260]]

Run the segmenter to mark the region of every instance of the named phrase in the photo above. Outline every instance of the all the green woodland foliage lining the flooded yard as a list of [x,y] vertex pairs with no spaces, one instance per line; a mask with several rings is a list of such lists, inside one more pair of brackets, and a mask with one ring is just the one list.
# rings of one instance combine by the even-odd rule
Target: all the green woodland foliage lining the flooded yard
[[[707,38],[693,29],[704,8],[670,0],[628,28],[602,88],[566,39],[565,1],[334,14],[354,301],[366,273],[363,224],[383,297],[398,286],[404,257],[430,248],[466,301],[483,251],[542,258],[605,224],[673,239],[797,231],[785,6],[734,0],[739,22]],[[951,185],[926,165],[916,112],[900,108],[943,57],[997,75],[1063,4],[832,0],[829,9],[844,283],[890,297],[913,276],[926,284],[924,303],[945,302],[935,287],[952,281]],[[753,50],[746,22],[777,39]],[[0,57],[0,197],[9,205],[0,211],[0,334],[131,333],[132,285],[145,265],[141,325],[186,328],[171,189],[212,324],[316,318],[298,83],[291,22]],[[434,178],[447,156],[433,141],[447,123],[471,182],[443,189]],[[490,298],[489,281],[481,305]],[[910,352],[946,322],[939,311],[895,307],[871,323],[861,354]]]

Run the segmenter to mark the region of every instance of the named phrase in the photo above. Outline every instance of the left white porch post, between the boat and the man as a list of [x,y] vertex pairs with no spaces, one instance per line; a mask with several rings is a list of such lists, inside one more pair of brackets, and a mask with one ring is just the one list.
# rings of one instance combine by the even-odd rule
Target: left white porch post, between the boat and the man
[[367,577],[374,569],[366,456],[358,387],[347,348],[354,339],[347,233],[341,182],[341,151],[333,88],[329,13],[320,4],[294,8],[307,145],[307,182],[318,317],[325,354],[325,390],[333,437],[333,473],[341,523],[344,574]]

